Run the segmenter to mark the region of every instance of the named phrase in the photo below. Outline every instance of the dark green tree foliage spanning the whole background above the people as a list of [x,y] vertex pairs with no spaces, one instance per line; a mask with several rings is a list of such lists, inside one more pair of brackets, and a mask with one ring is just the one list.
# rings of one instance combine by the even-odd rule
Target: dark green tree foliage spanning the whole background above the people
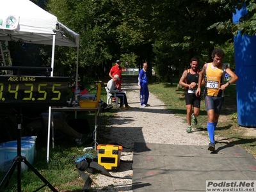
[[[79,75],[97,78],[108,75],[115,60],[148,70],[170,81],[189,67],[196,56],[202,64],[211,61],[214,47],[223,47],[232,58],[232,38],[237,31],[255,32],[254,1],[226,0],[44,0],[33,2],[56,15],[80,35]],[[232,13],[246,4],[246,16],[232,22]],[[47,63],[47,47],[40,47],[36,62]],[[31,49],[29,49],[31,51]],[[76,71],[73,47],[56,47],[55,63],[61,74]],[[33,61],[35,62],[35,61]],[[32,63],[33,63],[32,62]]]

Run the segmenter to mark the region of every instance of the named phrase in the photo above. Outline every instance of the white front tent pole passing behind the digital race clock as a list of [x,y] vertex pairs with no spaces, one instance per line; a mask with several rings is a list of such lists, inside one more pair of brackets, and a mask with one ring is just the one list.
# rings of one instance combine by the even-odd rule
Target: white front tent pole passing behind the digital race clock
[[[54,52],[55,52],[55,38],[56,35],[53,35],[52,38],[52,61],[51,61],[51,77],[53,77],[53,69],[54,69]],[[51,131],[51,117],[53,118],[53,115],[51,116],[51,106],[49,106],[49,116],[48,116],[48,135],[47,135],[47,163],[49,163],[49,151],[50,151],[50,131]],[[52,133],[54,131],[54,127],[52,125]],[[54,140],[54,135],[52,134],[52,140]],[[52,148],[54,148],[54,142],[52,141]]]

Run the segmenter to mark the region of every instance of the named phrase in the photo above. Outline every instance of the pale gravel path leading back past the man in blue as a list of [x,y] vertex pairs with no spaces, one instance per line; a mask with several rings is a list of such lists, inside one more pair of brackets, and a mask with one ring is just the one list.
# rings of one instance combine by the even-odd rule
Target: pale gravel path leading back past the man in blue
[[[133,107],[128,110],[118,110],[116,118],[111,118],[111,134],[107,137],[113,143],[119,143],[124,147],[122,160],[132,160],[132,148],[134,142],[163,143],[174,145],[206,145],[207,136],[202,136],[194,129],[194,132],[186,133],[187,124],[184,118],[175,116],[172,111],[165,109],[161,100],[150,93],[147,108],[140,108],[139,86],[136,83],[123,84],[122,89],[127,92],[129,105]],[[186,110],[184,106],[184,110]],[[200,122],[199,122],[200,123]],[[132,177],[132,164],[120,163],[118,172],[112,175]],[[115,179],[104,175],[93,176],[92,188],[97,191],[132,191],[132,180]]]

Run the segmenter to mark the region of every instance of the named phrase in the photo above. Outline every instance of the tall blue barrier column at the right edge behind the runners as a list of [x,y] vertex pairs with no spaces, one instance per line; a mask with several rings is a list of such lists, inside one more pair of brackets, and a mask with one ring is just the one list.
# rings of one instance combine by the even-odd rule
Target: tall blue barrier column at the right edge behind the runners
[[[246,14],[246,9],[237,10],[233,22]],[[239,80],[237,90],[238,124],[243,127],[256,127],[256,36],[239,35],[234,37],[236,74]]]

